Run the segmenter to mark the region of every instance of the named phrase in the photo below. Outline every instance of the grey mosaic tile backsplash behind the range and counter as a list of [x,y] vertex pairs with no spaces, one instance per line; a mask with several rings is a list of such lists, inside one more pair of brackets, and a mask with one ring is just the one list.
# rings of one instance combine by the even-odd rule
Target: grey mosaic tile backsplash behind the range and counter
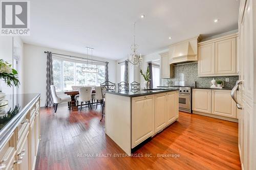
[[[210,87],[210,81],[215,78],[215,80],[224,81],[224,88],[233,88],[236,85],[238,76],[223,76],[223,77],[198,77],[198,63],[181,64],[174,66],[174,78],[171,79],[161,79],[162,86],[173,86],[175,81],[186,81],[193,82],[196,81],[197,87]],[[225,79],[229,78],[229,82]]]

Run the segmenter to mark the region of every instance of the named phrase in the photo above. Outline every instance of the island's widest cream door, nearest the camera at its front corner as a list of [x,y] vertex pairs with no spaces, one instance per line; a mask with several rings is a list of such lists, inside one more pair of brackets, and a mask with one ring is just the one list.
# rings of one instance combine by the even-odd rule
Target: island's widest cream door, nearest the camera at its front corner
[[155,133],[155,96],[132,98],[132,148]]

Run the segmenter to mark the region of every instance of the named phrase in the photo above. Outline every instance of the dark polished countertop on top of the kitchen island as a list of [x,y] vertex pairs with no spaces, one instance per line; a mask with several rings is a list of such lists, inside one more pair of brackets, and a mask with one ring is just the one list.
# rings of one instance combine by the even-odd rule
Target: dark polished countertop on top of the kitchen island
[[170,92],[170,91],[178,91],[179,89],[156,89],[156,90],[133,90],[133,91],[120,91],[120,92],[112,92],[112,91],[106,91],[106,93],[111,94],[117,94],[117,95],[123,95],[130,98],[142,96],[142,95],[150,95],[150,94],[157,94],[157,93],[164,93],[164,92]]

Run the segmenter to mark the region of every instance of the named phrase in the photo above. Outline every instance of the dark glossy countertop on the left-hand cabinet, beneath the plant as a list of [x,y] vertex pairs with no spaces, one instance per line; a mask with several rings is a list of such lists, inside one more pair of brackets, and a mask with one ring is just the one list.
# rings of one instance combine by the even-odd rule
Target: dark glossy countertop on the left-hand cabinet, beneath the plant
[[8,134],[22,121],[32,104],[39,98],[40,93],[6,95],[4,100],[8,105],[0,107],[0,149],[5,144]]

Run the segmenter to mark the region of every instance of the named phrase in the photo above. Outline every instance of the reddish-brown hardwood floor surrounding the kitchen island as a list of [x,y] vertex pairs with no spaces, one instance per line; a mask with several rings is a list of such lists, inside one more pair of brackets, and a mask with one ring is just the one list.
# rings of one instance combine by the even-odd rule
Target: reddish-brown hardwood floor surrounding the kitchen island
[[179,122],[134,157],[121,157],[124,152],[104,133],[104,118],[99,121],[101,107],[95,108],[69,111],[59,105],[56,114],[41,108],[35,169],[241,169],[237,123],[179,112]]

